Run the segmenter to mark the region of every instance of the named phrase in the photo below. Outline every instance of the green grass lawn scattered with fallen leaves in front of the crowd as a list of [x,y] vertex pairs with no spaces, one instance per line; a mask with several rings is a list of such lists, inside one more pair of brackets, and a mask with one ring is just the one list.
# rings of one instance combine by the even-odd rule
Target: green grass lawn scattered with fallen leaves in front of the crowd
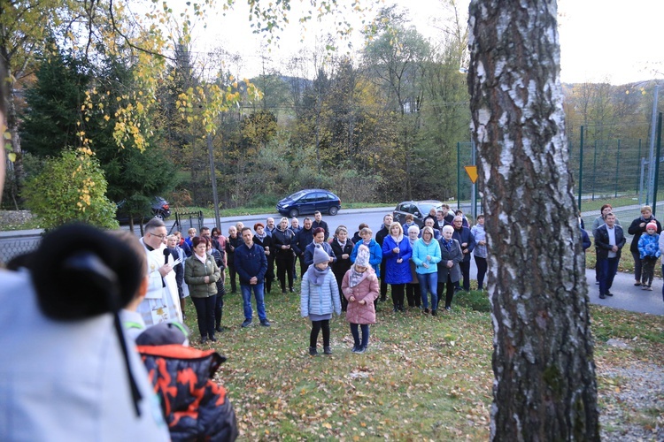
[[[273,292],[279,293],[266,295],[272,327],[259,326],[254,316],[247,329],[239,327],[241,296],[229,293],[222,321],[228,330],[214,346],[228,356],[218,381],[228,388],[243,440],[488,438],[493,331],[485,293],[459,294],[452,313],[437,317],[416,309],[395,314],[389,301],[381,303],[366,354],[351,353],[348,323],[335,317],[333,354],[322,355],[320,336],[321,355],[311,357],[299,290],[281,294],[277,284]],[[190,301],[187,310],[192,344],[200,347]],[[661,364],[661,316],[598,306],[591,314],[598,367]],[[605,344],[611,338],[629,341],[631,349],[614,351]],[[598,375],[600,405],[611,400],[613,407],[610,394],[625,382]],[[630,422],[654,427],[664,414],[661,403],[640,414],[630,409]]]

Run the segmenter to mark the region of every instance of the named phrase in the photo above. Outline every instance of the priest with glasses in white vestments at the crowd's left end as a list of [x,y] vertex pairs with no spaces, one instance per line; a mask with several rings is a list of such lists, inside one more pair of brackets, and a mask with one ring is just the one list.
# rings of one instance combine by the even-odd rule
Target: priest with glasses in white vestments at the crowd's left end
[[[141,244],[148,256],[148,293],[138,306],[147,326],[161,322],[182,322],[180,296],[178,295],[174,258],[166,248],[166,225],[158,218],[152,218],[145,225],[145,235]],[[164,253],[166,251],[166,253]]]

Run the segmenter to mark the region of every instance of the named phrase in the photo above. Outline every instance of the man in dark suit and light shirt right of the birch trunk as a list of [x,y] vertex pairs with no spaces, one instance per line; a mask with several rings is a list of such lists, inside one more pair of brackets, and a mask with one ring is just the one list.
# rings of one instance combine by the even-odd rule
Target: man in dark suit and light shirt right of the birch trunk
[[613,296],[609,292],[614,284],[615,273],[621,260],[622,246],[625,245],[625,235],[622,227],[615,224],[615,215],[609,212],[604,217],[604,225],[597,229],[595,236],[595,250],[597,252],[597,265],[599,272],[599,299]]

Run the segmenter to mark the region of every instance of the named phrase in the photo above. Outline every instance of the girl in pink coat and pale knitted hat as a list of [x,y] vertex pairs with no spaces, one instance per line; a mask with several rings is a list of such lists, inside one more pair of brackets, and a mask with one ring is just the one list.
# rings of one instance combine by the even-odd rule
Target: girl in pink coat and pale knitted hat
[[[351,323],[352,339],[355,345],[352,353],[364,353],[369,345],[369,324],[375,324],[374,300],[380,296],[380,284],[374,269],[369,264],[369,249],[360,245],[358,255],[351,270],[346,271],[341,290],[348,300],[346,319]],[[362,340],[359,340],[359,328]]]

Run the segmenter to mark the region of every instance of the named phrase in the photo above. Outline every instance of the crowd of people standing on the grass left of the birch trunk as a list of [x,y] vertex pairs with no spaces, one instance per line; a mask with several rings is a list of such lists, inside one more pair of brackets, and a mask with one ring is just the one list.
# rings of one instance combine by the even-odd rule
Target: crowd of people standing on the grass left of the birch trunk
[[[387,214],[375,234],[363,223],[352,239],[345,225],[338,226],[330,237],[320,212],[313,219],[305,217],[302,226],[297,217],[282,217],[278,222],[268,217],[265,224],[255,223],[253,228],[238,222],[228,228],[228,237],[216,227],[212,231],[203,227],[200,232],[190,228],[187,238],[180,232],[166,236],[163,223],[152,220],[146,225],[142,240],[157,250],[150,252],[152,270],[158,270],[151,277],[156,278],[153,286],[158,286],[157,279],[168,279],[168,292],[177,293],[177,297],[166,299],[161,309],[156,309],[155,301],[151,301],[153,296],[146,297],[139,311],[146,324],[181,320],[185,300],[190,297],[197,312],[200,342],[215,341],[215,332],[225,329],[221,325],[225,285],[230,293],[237,293],[239,281],[242,327],[253,322],[252,301],[260,325],[269,327],[266,293],[273,290],[275,279],[281,293],[294,293],[299,275],[301,313],[313,324],[309,353],[318,354],[315,342],[320,331],[324,353],[331,351],[328,320],[333,313],[341,312],[346,312],[351,324],[355,339],[352,351],[363,353],[367,349],[368,325],[375,322],[378,302],[387,301],[389,290],[394,312],[421,309],[424,314],[436,316],[438,299],[443,300],[443,294],[443,308],[450,311],[454,293],[470,290],[471,255],[478,269],[478,288],[483,290],[487,270],[484,217],[477,217],[470,227],[460,210],[456,216],[449,212],[446,205],[432,210],[422,229],[412,216],[401,225]],[[158,241],[166,245],[159,248]],[[167,257],[160,269],[161,250]],[[172,311],[177,298],[180,309]],[[312,307],[314,304],[316,308]]]

